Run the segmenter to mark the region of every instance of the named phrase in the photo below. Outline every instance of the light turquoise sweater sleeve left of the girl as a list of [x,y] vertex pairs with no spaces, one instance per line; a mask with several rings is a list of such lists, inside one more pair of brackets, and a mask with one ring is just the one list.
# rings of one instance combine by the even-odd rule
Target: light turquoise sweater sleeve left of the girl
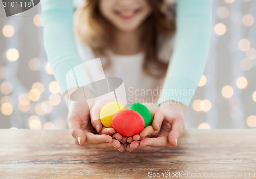
[[[72,0],[41,1],[41,21],[49,64],[62,94],[67,92],[66,74],[82,60],[78,55],[73,33]],[[84,76],[89,82],[89,77]]]

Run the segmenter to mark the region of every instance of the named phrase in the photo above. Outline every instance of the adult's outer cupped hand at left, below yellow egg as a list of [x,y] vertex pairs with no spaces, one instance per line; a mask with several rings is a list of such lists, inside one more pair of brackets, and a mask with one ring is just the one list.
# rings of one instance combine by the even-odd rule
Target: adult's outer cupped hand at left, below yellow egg
[[[116,139],[112,139],[110,136],[116,132],[113,128],[102,129],[99,119],[90,120],[90,110],[87,102],[71,101],[67,93],[64,95],[64,98],[69,108],[68,126],[77,145],[94,149],[125,150],[123,144]],[[97,106],[94,108],[97,108]],[[101,134],[97,134],[97,132]]]

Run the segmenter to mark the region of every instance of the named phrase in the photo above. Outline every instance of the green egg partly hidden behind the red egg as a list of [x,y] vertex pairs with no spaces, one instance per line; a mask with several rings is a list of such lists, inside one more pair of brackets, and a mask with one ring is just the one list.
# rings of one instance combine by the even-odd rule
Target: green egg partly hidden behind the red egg
[[150,110],[148,110],[148,108],[145,105],[141,103],[134,103],[134,104],[131,104],[128,107],[128,109],[136,111],[143,117],[145,121],[145,127],[151,124],[152,116],[151,116]]

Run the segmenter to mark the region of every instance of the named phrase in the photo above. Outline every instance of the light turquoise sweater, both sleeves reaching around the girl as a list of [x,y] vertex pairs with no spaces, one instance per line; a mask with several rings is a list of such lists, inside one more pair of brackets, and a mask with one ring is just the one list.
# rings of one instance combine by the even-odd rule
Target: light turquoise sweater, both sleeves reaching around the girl
[[[177,0],[177,32],[159,104],[174,100],[189,105],[208,57],[212,0]],[[49,64],[61,92],[67,92],[66,73],[83,61],[73,33],[71,0],[41,1],[41,21]],[[89,81],[89,77],[86,77]]]

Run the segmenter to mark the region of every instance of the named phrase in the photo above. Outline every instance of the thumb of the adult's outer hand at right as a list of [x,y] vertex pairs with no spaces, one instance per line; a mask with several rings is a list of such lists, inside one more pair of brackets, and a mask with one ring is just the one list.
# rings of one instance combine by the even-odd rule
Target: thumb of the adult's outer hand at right
[[180,117],[179,119],[173,122],[172,128],[168,136],[168,141],[170,145],[174,147],[177,146],[177,140],[181,137],[184,129],[185,125],[183,117]]

